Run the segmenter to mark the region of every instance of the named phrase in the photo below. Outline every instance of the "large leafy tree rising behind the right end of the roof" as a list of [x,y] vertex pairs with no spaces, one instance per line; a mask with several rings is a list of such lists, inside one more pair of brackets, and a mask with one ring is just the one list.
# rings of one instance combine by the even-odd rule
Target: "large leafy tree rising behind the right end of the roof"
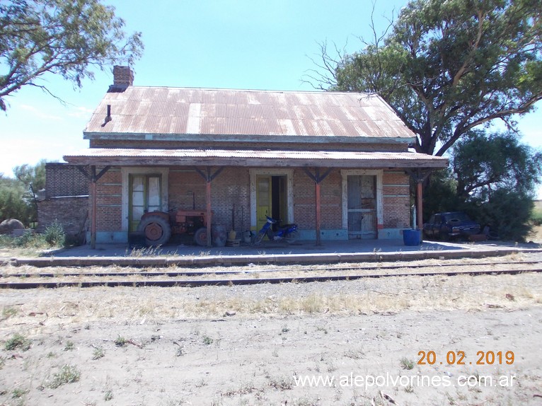
[[[391,33],[333,59],[323,45],[317,79],[332,91],[379,93],[417,135],[419,152],[442,155],[474,127],[542,98],[541,0],[411,0]],[[323,86],[322,86],[323,85]]]

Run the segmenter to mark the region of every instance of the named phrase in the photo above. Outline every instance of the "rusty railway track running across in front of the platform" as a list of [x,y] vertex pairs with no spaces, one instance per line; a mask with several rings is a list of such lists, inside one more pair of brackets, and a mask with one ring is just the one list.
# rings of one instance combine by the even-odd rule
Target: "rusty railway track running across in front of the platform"
[[39,289],[60,287],[93,287],[93,286],[224,286],[247,284],[279,284],[292,282],[326,282],[347,281],[363,278],[384,277],[428,277],[519,274],[522,272],[542,272],[542,261],[498,261],[435,264],[403,264],[403,265],[326,265],[276,267],[270,269],[220,269],[194,271],[190,269],[164,268],[158,271],[125,272],[79,272],[68,270],[62,272],[15,272],[0,274],[0,289]]

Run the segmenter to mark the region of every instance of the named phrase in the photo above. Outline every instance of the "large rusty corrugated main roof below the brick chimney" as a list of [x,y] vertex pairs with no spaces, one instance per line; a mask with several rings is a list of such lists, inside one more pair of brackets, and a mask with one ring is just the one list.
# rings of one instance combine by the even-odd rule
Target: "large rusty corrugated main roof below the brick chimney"
[[[108,105],[112,120],[105,122]],[[89,138],[93,134],[414,137],[378,95],[142,86],[106,93],[84,132]]]

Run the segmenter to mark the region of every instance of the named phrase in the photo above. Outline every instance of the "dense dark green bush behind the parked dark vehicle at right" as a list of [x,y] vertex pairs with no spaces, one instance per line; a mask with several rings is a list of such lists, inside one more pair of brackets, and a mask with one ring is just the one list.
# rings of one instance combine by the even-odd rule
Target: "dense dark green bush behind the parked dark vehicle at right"
[[[514,134],[471,132],[453,149],[452,168],[434,173],[425,192],[425,215],[466,211],[503,240],[524,240],[533,224],[533,192],[541,153]],[[427,219],[427,218],[426,218]]]

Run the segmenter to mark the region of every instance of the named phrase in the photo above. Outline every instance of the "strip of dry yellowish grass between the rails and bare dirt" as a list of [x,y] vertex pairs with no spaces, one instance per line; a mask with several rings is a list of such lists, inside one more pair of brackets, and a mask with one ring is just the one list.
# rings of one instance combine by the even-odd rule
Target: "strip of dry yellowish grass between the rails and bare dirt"
[[[330,313],[357,315],[404,309],[473,310],[492,306],[522,308],[542,303],[542,275],[471,277],[386,277],[314,284],[204,286],[201,288],[92,288],[4,291],[0,298],[10,317],[3,326],[89,323],[114,318],[118,323],[179,319],[282,317]],[[508,295],[508,296],[507,296]],[[511,300],[510,298],[513,298]]]

